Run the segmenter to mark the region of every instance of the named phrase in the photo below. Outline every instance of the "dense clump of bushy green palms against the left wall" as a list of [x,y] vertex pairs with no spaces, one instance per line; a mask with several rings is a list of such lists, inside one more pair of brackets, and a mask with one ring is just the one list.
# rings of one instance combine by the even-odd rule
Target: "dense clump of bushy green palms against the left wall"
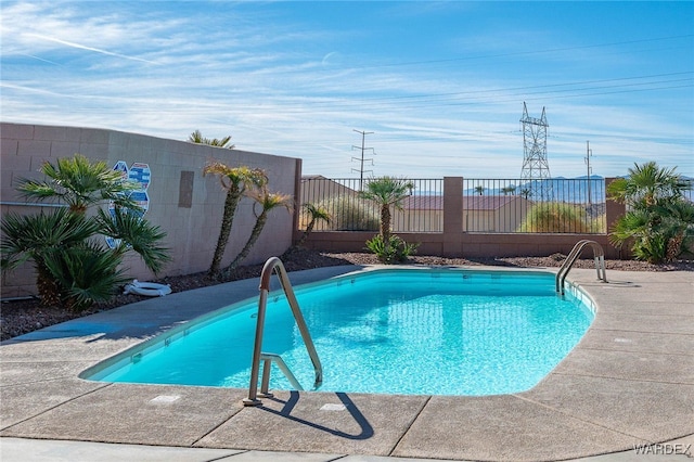
[[[34,261],[44,305],[83,309],[107,299],[125,282],[118,267],[129,249],[140,254],[154,272],[170,260],[168,248],[160,245],[166,233],[142,219],[141,208],[130,198],[138,187],[123,181],[105,162],[90,163],[75,154],[57,159],[56,165],[47,162],[40,171],[47,179],[20,180],[20,193],[27,200],[57,200],[66,207],[35,216],[8,215],[2,220],[0,249],[3,270]],[[115,218],[102,208],[87,215],[105,201],[114,204]],[[120,244],[107,248],[94,240],[99,234]]]

